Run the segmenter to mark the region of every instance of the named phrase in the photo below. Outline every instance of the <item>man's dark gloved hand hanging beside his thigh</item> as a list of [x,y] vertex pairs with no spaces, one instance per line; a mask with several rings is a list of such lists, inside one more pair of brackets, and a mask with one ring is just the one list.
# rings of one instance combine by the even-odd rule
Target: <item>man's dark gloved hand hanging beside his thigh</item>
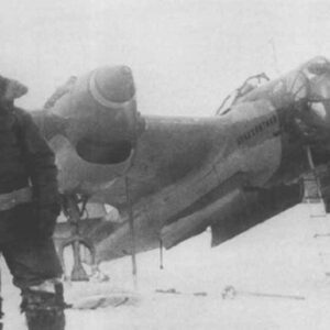
[[41,238],[52,238],[59,211],[58,205],[42,206],[38,209],[38,234]]

